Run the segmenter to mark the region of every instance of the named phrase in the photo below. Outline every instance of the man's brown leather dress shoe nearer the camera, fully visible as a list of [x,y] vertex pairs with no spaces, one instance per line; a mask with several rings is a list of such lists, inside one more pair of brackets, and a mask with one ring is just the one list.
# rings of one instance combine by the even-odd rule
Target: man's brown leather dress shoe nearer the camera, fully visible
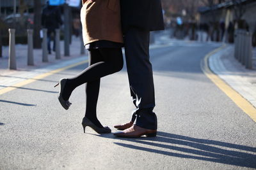
[[143,135],[147,137],[156,136],[157,130],[144,129],[137,125],[132,125],[132,127],[125,129],[124,131],[115,132],[114,135],[118,137],[127,137],[127,138],[139,138]]

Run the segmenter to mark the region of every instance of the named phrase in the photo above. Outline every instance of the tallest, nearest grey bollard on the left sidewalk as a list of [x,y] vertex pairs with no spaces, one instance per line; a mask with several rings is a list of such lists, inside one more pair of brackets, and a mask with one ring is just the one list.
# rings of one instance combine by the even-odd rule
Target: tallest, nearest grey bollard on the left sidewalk
[[9,69],[17,69],[15,54],[15,29],[9,29]]

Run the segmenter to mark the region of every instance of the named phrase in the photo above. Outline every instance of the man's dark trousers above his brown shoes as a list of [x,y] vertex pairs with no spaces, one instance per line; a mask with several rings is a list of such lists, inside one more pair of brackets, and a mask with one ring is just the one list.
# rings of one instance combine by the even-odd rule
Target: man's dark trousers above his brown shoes
[[125,32],[125,59],[133,103],[132,122],[146,129],[157,129],[154,80],[149,60],[149,31],[130,28]]

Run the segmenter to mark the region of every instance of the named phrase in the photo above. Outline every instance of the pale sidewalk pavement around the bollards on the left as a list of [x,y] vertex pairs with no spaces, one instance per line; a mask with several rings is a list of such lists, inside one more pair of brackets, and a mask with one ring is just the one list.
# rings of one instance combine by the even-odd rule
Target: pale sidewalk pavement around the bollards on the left
[[[52,42],[53,43],[53,42]],[[35,49],[34,52],[34,64],[35,66],[27,65],[28,46],[16,45],[16,62],[17,70],[8,69],[8,50],[9,46],[3,47],[3,57],[0,58],[0,90],[5,87],[13,86],[21,81],[28,80],[38,76],[39,74],[47,73],[54,69],[60,69],[61,67],[69,66],[77,62],[86,60],[88,57],[85,54],[81,55],[81,39],[76,36],[72,37],[72,44],[70,45],[70,56],[64,57],[64,42],[60,42],[61,59],[55,59],[55,53],[52,52],[48,55],[49,62],[42,62],[42,49]]]

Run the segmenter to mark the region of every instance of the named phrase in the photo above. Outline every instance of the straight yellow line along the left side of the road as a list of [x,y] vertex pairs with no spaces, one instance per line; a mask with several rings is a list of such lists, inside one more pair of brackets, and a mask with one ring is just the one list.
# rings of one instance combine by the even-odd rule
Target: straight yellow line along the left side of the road
[[58,73],[58,72],[60,72],[60,71],[64,71],[64,70],[66,70],[66,69],[70,69],[70,68],[72,68],[72,67],[76,67],[76,66],[85,64],[85,63],[87,63],[87,62],[88,62],[88,60],[84,60],[84,61],[81,61],[81,62],[77,62],[76,64],[72,64],[72,65],[70,65],[70,66],[62,67],[62,68],[60,68],[60,69],[55,69],[55,70],[49,71],[49,72],[47,72],[47,73],[44,73],[44,74],[40,74],[40,75],[38,75],[38,76],[35,76],[35,77],[33,77],[33,78],[29,78],[28,80],[25,80],[25,81],[22,81],[22,82],[20,82],[20,83],[17,83],[17,84],[15,84],[15,85],[13,85],[12,87],[6,87],[6,88],[4,88],[4,89],[1,89],[1,90],[0,90],[0,95],[5,94],[6,92],[10,92],[10,91],[12,91],[12,90],[15,90],[15,89],[17,89],[17,88],[19,88],[19,87],[22,87],[22,86],[24,86],[24,85],[28,85],[29,83],[32,83],[32,82],[34,82],[34,81],[36,81],[36,80],[41,80],[41,79],[43,79],[43,78],[45,78],[45,77],[47,77],[47,76],[51,76],[52,74]]

